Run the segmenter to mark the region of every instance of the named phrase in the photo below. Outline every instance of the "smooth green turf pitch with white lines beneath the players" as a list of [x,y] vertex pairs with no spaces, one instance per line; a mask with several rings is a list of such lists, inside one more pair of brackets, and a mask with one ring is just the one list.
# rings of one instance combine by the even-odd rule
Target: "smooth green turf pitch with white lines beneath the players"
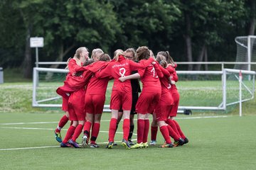
[[[0,113],[0,169],[255,169],[256,166],[255,115],[241,118],[178,115],[176,120],[189,139],[187,145],[159,148],[163,138],[158,132],[158,145],[129,150],[121,145],[105,149],[110,113],[102,116],[97,139],[100,148],[60,148],[53,130],[61,116],[62,113]],[[115,137],[117,142],[122,140],[120,127]],[[62,131],[63,137],[67,128],[68,125]]]

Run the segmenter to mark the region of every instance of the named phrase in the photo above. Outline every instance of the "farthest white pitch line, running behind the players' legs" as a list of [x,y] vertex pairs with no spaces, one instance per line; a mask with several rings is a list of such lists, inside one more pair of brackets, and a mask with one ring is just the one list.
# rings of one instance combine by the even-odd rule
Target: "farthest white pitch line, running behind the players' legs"
[[[228,118],[228,117],[229,117],[228,115],[213,115],[213,116],[196,116],[196,117],[175,118],[175,119],[182,120],[182,119]],[[149,120],[151,120],[151,119],[149,119]],[[100,121],[101,122],[110,122],[110,120],[100,120]],[[137,121],[137,119],[134,119],[134,121]],[[58,123],[58,122],[0,123],[0,125],[28,125],[28,124],[48,124],[48,123]]]

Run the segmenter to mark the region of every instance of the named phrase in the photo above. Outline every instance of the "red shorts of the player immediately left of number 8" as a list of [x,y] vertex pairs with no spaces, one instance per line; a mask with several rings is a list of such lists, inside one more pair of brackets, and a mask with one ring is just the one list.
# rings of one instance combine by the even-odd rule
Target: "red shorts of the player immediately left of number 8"
[[85,112],[102,113],[105,103],[105,94],[85,94]]

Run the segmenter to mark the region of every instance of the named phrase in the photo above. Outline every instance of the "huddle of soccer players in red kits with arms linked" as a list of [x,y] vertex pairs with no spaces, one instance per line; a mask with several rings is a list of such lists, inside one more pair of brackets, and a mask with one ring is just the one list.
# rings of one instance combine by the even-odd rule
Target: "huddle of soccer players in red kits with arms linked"
[[[92,50],[89,58],[86,47],[79,47],[72,59],[68,60],[69,72],[64,85],[57,89],[63,96],[63,111],[55,129],[55,138],[60,147],[81,147],[76,142],[83,131],[82,147],[99,147],[96,143],[100,132],[100,119],[105,104],[105,93],[110,79],[114,79],[110,99],[111,120],[108,149],[115,145],[114,135],[123,118],[122,145],[126,149],[149,147],[149,115],[151,142],[156,145],[157,126],[164,137],[161,147],[176,147],[188,143],[188,139],[174,120],[178,110],[179,94],[176,89],[176,64],[169,52],[158,52],[156,58],[148,47],[135,51],[116,50],[113,60],[101,49]],[[137,62],[136,62],[137,61]],[[139,79],[142,93],[139,95]],[[132,142],[134,114],[137,113],[137,143]],[[71,120],[70,128],[62,140],[60,130]],[[92,132],[90,133],[90,129]],[[171,142],[171,137],[174,142]]]

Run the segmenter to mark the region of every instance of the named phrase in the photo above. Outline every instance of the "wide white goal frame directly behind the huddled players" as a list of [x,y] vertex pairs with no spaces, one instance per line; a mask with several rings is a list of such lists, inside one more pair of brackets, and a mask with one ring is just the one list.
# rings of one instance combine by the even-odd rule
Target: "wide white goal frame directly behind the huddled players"
[[[48,73],[52,78],[46,79]],[[238,69],[223,71],[177,71],[179,81],[177,88],[180,93],[178,112],[186,110],[222,110],[227,106],[239,103],[239,72]],[[242,101],[254,98],[255,72],[242,70]],[[33,68],[33,107],[61,107],[62,98],[56,94],[58,86],[63,86],[67,69]],[[215,77],[214,79],[211,77]],[[107,98],[110,98],[112,84],[109,83]],[[214,101],[215,100],[215,101]],[[196,101],[196,103],[193,103]],[[110,111],[106,103],[104,111]]]

